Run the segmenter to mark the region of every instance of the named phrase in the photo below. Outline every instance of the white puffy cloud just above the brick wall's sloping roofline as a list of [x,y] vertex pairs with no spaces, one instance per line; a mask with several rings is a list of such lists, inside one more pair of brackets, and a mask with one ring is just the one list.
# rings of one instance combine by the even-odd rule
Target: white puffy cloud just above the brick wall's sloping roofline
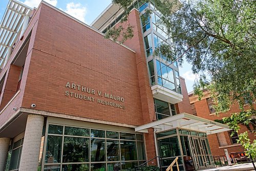
[[66,10],[63,11],[79,19],[81,22],[86,23],[85,17],[87,14],[87,8],[82,6],[80,3],[68,3],[66,6]]

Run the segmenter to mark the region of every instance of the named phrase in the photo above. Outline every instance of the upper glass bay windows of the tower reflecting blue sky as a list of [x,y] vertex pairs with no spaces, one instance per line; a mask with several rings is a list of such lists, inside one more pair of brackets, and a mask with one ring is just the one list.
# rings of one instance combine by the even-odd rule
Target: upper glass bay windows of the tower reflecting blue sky
[[[141,16],[145,14],[145,10],[147,8],[150,8],[153,11],[150,16],[148,16],[146,19],[143,19],[143,22],[141,19],[145,55],[148,62],[148,73],[150,75],[151,86],[158,84],[181,94],[177,62],[175,61],[174,63],[169,63],[166,61],[164,56],[153,57],[155,48],[159,47],[161,44],[171,44],[170,40],[168,40],[166,28],[159,24],[161,13],[155,7],[154,1],[151,1],[150,3],[145,0],[135,1],[129,9],[133,10],[134,8],[140,12]],[[123,16],[124,14],[120,14],[102,32],[106,33],[108,29],[113,28],[118,22],[120,22]],[[157,66],[157,61],[161,62],[161,66]],[[172,73],[168,73],[170,70],[172,70]],[[163,73],[158,75],[159,72]]]

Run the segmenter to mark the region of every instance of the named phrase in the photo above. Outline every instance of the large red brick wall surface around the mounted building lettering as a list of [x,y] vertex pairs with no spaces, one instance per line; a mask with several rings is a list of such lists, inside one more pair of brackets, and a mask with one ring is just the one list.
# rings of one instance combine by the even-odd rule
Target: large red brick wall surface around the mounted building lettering
[[[136,55],[42,4],[22,106],[92,119],[143,124]],[[67,82],[121,96],[125,110],[65,96]]]

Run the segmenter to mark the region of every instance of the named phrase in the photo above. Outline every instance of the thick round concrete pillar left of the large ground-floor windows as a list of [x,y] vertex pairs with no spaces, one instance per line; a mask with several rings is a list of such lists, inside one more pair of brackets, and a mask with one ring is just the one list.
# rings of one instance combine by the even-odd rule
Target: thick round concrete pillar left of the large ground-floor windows
[[28,116],[19,171],[37,170],[43,125],[43,116]]

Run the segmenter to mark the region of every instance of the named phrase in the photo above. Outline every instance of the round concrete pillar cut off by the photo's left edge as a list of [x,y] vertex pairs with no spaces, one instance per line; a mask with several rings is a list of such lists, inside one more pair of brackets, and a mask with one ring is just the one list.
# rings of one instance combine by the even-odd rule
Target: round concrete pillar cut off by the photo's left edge
[[0,170],[5,170],[5,162],[9,149],[10,138],[0,138]]

